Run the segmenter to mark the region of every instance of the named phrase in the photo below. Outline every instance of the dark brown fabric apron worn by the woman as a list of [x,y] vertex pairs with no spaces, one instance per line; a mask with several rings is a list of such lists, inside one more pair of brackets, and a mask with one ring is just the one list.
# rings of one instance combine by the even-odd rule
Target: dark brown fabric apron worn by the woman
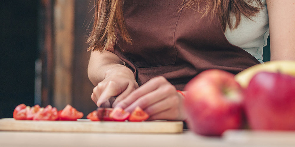
[[206,69],[233,74],[260,62],[230,44],[218,19],[182,9],[183,0],[125,0],[124,21],[133,44],[118,35],[115,54],[132,69],[139,85],[164,76],[178,90]]

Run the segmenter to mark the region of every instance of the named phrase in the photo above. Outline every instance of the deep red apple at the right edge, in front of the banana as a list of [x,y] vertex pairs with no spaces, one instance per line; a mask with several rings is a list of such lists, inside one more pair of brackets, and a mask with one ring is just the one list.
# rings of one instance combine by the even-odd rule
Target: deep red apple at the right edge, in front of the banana
[[295,78],[259,72],[245,90],[245,112],[250,128],[295,130]]

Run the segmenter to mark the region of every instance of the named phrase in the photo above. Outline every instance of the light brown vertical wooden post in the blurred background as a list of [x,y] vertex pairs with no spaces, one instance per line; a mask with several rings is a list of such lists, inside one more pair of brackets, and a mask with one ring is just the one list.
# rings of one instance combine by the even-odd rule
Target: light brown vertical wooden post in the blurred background
[[55,0],[54,22],[54,92],[53,104],[62,109],[72,105],[74,54],[74,0]]

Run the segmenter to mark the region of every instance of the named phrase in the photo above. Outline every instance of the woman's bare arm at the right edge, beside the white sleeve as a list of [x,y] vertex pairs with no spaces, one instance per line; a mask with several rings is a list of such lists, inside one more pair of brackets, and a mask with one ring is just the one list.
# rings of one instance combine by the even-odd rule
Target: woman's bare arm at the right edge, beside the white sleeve
[[295,60],[295,0],[267,0],[271,60]]

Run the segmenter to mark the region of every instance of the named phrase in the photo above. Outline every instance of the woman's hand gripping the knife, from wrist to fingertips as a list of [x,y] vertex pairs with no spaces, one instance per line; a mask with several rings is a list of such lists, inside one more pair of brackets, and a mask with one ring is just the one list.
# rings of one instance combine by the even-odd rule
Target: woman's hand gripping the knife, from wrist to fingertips
[[118,65],[108,70],[104,80],[93,88],[91,99],[98,107],[101,104],[104,107],[111,107],[109,98],[117,96],[114,102],[120,101],[137,87],[138,84],[132,71],[125,66]]

